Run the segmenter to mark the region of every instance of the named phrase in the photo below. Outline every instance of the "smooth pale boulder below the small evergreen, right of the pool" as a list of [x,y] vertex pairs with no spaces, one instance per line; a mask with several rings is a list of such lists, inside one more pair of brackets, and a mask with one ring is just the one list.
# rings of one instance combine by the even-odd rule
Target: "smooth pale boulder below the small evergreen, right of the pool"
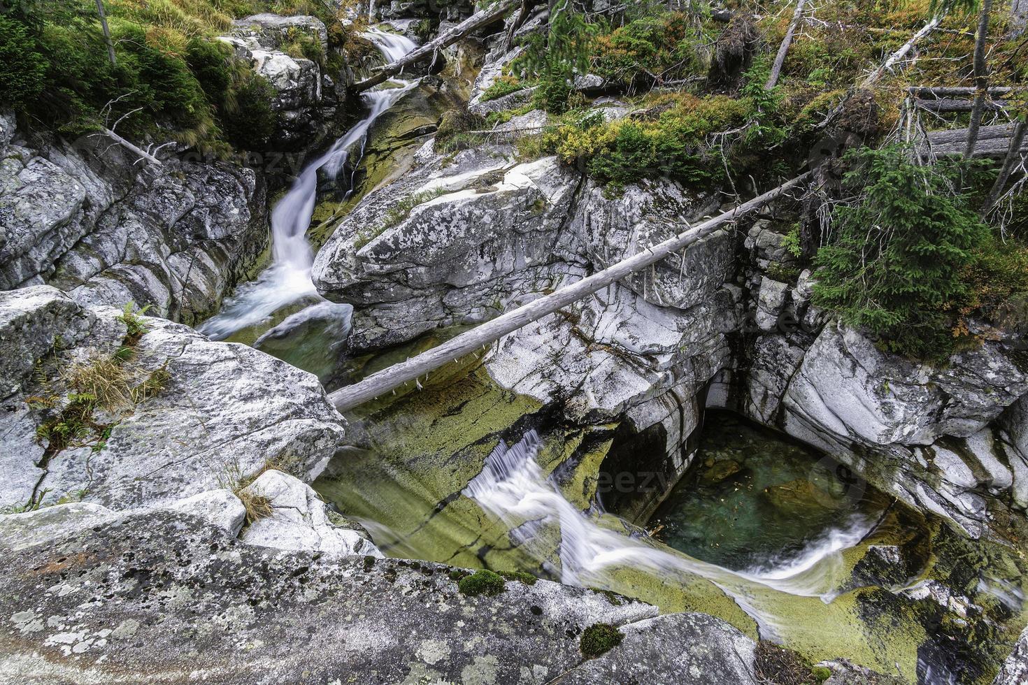
[[1004,443],[987,426],[1028,391],[1028,377],[998,345],[935,368],[830,325],[791,378],[784,430],[909,504],[978,537],[991,525],[990,502],[1013,499],[1021,462],[998,453]]

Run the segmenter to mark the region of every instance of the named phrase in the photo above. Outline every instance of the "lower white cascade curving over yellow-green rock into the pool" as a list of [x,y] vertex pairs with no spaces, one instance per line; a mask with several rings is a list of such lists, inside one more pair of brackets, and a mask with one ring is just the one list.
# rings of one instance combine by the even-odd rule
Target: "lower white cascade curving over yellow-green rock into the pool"
[[501,443],[485,460],[481,473],[464,494],[503,521],[521,548],[546,564],[550,547],[535,533],[559,529],[560,580],[565,584],[610,587],[604,571],[613,567],[644,568],[660,574],[693,574],[714,582],[760,624],[765,637],[778,634],[779,618],[762,610],[755,591],[777,591],[830,602],[842,569],[842,550],[859,542],[870,529],[864,519],[829,531],[800,554],[767,567],[731,571],[686,555],[661,549],[642,539],[602,528],[597,520],[567,501],[536,462],[542,443],[528,431],[516,445]]

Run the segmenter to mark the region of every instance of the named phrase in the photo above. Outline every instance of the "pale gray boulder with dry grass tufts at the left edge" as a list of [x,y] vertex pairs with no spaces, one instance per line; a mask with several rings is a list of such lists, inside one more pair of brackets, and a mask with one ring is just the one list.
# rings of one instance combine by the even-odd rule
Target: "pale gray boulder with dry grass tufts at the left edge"
[[[19,328],[33,314],[46,322],[53,311],[59,315],[45,327]],[[171,503],[254,472],[265,460],[289,461],[314,478],[342,436],[342,419],[313,375],[249,347],[143,317],[147,331],[121,368],[125,383],[136,387],[159,371],[158,387],[131,406],[98,408],[94,420],[106,426],[102,434],[80,430],[64,444],[38,437],[38,426],[70,420],[62,414],[73,402],[68,370],[109,359],[125,344],[125,325],[118,310],[84,309],[48,287],[0,294],[0,331],[17,333],[5,340],[9,358],[19,363],[8,373],[22,379],[0,417],[3,467],[14,475],[0,489],[0,506],[24,505],[34,493],[42,503],[69,497],[114,508]]]

